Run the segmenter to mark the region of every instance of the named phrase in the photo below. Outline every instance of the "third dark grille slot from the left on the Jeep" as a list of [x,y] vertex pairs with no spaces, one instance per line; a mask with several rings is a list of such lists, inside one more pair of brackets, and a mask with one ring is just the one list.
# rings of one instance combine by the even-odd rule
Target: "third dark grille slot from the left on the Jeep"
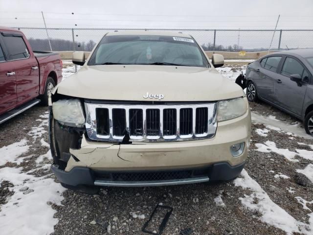
[[129,110],[130,136],[143,136],[142,109]]

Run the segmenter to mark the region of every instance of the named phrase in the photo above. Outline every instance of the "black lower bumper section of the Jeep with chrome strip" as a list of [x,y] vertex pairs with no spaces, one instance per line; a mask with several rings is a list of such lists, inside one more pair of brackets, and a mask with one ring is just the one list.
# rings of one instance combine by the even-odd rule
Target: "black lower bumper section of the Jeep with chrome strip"
[[231,180],[240,174],[245,164],[246,162],[243,162],[231,166],[223,162],[212,164],[206,168],[136,172],[97,171],[81,166],[74,167],[69,172],[66,172],[59,169],[59,165],[55,164],[52,164],[51,169],[58,180],[66,186],[151,187],[201,183],[209,180]]

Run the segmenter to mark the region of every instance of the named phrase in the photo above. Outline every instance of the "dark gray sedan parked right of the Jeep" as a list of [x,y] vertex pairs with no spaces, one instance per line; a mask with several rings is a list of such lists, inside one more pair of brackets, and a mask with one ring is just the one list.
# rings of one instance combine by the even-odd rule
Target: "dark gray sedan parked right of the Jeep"
[[268,54],[246,69],[249,101],[263,100],[304,121],[313,135],[313,49]]

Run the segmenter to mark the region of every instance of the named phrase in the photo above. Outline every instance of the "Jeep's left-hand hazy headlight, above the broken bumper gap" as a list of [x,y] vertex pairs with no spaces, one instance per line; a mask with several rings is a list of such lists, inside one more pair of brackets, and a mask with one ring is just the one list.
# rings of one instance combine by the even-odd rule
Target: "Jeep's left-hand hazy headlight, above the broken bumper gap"
[[84,126],[83,107],[78,99],[60,99],[52,103],[53,117],[67,126]]

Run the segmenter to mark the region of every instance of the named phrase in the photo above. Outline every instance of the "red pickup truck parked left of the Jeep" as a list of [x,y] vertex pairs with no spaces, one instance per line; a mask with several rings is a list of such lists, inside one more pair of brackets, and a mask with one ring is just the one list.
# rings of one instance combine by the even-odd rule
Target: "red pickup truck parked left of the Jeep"
[[42,102],[62,80],[59,54],[33,51],[25,35],[0,26],[0,123]]

